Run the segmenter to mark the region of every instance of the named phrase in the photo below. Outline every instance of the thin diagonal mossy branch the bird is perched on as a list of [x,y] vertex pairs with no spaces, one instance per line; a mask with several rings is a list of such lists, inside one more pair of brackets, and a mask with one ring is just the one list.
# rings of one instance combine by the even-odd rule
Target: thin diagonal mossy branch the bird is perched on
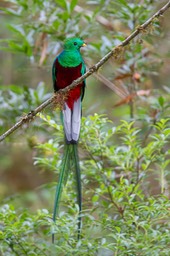
[[[121,44],[114,47],[110,52],[108,52],[98,63],[92,66],[83,76],[79,77],[75,81],[73,81],[69,86],[64,89],[59,90],[58,93],[67,93],[70,89],[75,88],[78,84],[80,84],[84,79],[89,77],[91,74],[96,72],[101,66],[104,65],[112,56],[117,58],[118,55],[122,52],[122,48],[128,45],[132,39],[134,39],[137,35],[141,34],[145,31],[145,29],[153,22],[155,18],[159,18],[167,9],[170,7],[170,1],[168,1],[159,11],[157,11],[151,18],[149,18],[142,25],[138,26],[132,34],[130,34],[125,40],[122,41]],[[12,126],[9,130],[7,130],[4,134],[0,136],[0,141],[3,141],[7,136],[16,131],[19,127],[21,127],[24,123],[32,121],[37,113],[41,112],[44,108],[50,105],[56,99],[56,95],[52,96],[40,106],[38,106],[33,111],[29,112],[26,116],[22,117],[20,121],[18,121],[14,126]]]

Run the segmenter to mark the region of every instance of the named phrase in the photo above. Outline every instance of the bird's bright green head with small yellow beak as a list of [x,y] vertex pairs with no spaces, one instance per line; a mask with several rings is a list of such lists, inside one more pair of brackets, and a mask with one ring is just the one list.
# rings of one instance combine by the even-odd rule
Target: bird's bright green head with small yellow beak
[[69,38],[64,42],[65,50],[80,50],[83,46],[86,46],[85,42],[78,37]]

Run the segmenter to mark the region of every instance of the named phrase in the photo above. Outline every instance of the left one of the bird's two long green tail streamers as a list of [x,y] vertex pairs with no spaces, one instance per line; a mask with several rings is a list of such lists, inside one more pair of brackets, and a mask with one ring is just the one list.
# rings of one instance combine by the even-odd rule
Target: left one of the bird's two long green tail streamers
[[[53,211],[53,221],[55,222],[56,216],[59,209],[59,201],[63,191],[63,187],[67,182],[68,172],[70,169],[70,145],[65,145],[65,152],[62,162],[62,169],[59,175],[58,185],[56,187],[55,201],[54,201],[54,211]],[[54,233],[52,234],[52,243],[54,243]]]

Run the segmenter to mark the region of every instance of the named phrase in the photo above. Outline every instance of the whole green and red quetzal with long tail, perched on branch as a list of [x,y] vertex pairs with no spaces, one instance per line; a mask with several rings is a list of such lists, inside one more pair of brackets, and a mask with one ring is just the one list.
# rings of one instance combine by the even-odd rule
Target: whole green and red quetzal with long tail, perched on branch
[[[54,92],[70,85],[74,80],[85,74],[86,66],[82,58],[80,49],[86,43],[78,37],[66,39],[63,51],[55,58],[52,66],[52,79]],[[86,81],[83,80],[78,86],[68,91],[61,110],[61,119],[64,130],[64,153],[61,163],[59,180],[56,187],[56,195],[53,210],[53,222],[59,212],[59,202],[64,186],[67,183],[70,169],[75,172],[77,188],[77,204],[79,206],[78,216],[78,240],[81,232],[81,173],[78,156],[78,140],[80,135],[82,100],[84,98]],[[52,243],[54,243],[54,233],[52,233]]]

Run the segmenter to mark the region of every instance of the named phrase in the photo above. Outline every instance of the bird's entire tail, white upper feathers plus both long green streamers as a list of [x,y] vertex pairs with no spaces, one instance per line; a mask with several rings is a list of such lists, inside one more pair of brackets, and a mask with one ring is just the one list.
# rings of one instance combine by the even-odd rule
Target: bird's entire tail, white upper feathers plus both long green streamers
[[[56,188],[56,196],[54,202],[54,213],[53,221],[55,222],[56,216],[58,214],[59,201],[62,194],[64,185],[67,182],[70,166],[74,167],[76,187],[77,187],[77,203],[79,205],[79,217],[78,217],[78,239],[80,238],[81,231],[81,209],[82,209],[82,195],[81,195],[81,173],[79,166],[79,157],[77,151],[77,142],[80,133],[80,123],[81,123],[81,97],[79,97],[73,105],[73,109],[70,109],[65,103],[65,108],[62,111],[63,125],[65,131],[65,151],[62,161],[62,169],[59,175],[58,186]],[[54,233],[52,234],[52,243],[54,243]]]

